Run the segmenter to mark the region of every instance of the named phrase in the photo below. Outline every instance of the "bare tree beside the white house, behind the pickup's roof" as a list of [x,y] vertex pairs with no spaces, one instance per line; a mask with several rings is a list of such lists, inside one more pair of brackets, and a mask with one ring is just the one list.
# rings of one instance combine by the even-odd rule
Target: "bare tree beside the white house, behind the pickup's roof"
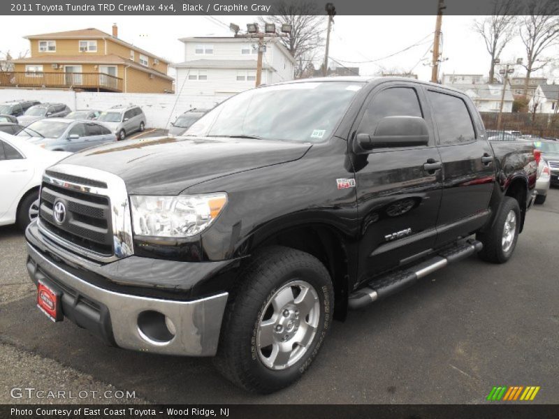
[[309,0],[281,0],[275,3],[277,15],[261,16],[261,23],[291,24],[291,36],[282,38],[295,59],[295,78],[300,78],[307,66],[317,59],[324,45],[324,16],[319,15],[317,3]]

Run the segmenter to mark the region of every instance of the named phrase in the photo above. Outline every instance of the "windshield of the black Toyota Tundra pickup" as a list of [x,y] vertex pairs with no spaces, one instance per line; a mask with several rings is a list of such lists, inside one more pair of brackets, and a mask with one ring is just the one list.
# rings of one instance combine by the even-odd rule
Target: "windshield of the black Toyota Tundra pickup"
[[361,82],[301,82],[251,89],[198,119],[187,135],[324,141],[361,87]]

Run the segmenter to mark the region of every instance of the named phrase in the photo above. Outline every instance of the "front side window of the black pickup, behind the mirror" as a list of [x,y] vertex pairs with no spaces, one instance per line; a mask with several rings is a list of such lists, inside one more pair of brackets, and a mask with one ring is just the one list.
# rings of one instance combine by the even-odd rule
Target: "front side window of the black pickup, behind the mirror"
[[372,135],[385,117],[423,117],[415,89],[392,87],[377,94],[365,110],[358,132]]

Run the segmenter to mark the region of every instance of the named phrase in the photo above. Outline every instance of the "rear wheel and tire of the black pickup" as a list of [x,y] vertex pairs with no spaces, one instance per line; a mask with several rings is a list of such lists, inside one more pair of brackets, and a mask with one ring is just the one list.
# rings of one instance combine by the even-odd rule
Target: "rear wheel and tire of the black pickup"
[[[484,248],[478,253],[479,257],[491,263],[507,262],[516,247],[520,222],[521,214],[518,201],[505,196],[501,210],[497,219],[495,219],[495,223],[493,223],[493,228],[484,233],[477,233],[477,240],[484,244]],[[507,232],[511,234],[509,235]],[[507,235],[506,239],[505,234]]]

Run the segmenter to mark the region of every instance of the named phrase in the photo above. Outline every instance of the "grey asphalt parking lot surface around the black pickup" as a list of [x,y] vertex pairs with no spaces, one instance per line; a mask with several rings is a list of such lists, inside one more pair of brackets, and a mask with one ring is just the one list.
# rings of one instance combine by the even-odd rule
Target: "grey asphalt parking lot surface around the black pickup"
[[211,359],[110,348],[69,321],[52,323],[36,308],[22,233],[3,227],[0,403],[22,402],[9,389],[29,385],[110,386],[156,403],[317,404],[484,403],[494,385],[539,385],[535,402],[557,403],[558,237],[559,189],[552,188],[528,213],[509,263],[468,258],[351,312],[333,324],[303,379],[258,396],[225,381]]

